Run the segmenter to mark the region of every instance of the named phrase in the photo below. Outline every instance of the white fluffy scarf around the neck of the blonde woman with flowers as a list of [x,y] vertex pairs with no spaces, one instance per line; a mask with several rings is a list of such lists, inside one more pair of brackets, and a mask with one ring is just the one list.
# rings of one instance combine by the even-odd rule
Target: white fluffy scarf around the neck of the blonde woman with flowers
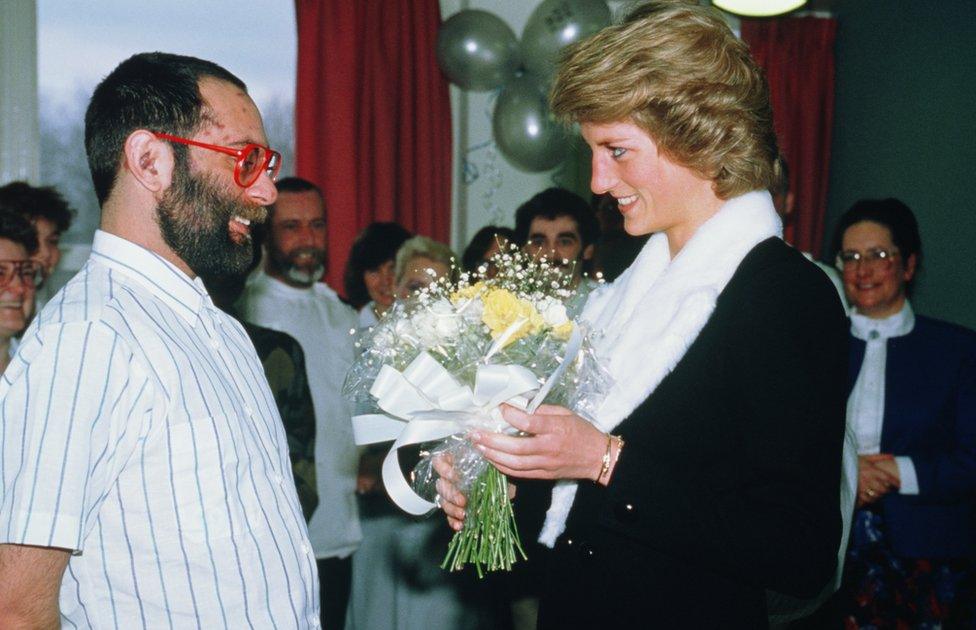
[[[674,260],[667,237],[655,234],[615,282],[590,294],[583,319],[614,379],[597,412],[599,428],[612,431],[651,395],[698,337],[742,259],[782,231],[769,193],[747,193],[725,202]],[[552,547],[566,528],[576,487],[556,484],[539,542]]]

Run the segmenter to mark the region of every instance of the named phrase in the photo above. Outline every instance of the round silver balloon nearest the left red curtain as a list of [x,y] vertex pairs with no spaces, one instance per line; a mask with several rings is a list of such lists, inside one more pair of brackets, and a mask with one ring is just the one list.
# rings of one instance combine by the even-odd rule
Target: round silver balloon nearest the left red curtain
[[518,41],[498,16],[478,9],[461,11],[437,33],[437,63],[465,90],[493,90],[515,75]]

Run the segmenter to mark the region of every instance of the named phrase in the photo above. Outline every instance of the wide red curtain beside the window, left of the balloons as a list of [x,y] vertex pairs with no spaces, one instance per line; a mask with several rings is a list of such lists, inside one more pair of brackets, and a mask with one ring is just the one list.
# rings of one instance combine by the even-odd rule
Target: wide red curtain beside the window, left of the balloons
[[437,66],[438,0],[296,0],[295,170],[321,186],[326,280],[342,287],[373,221],[447,242],[451,108]]

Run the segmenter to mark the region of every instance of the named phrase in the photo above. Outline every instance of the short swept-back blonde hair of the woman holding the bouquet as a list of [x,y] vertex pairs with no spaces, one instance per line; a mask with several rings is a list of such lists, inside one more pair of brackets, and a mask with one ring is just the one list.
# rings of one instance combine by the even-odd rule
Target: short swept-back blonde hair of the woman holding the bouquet
[[638,6],[566,52],[550,101],[566,122],[633,122],[721,199],[778,177],[766,79],[710,7]]

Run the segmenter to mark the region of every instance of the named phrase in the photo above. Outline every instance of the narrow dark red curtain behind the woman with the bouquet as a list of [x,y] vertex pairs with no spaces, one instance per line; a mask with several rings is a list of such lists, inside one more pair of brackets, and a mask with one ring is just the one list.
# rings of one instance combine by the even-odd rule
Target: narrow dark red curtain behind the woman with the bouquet
[[742,39],[766,71],[790,170],[795,205],[785,237],[814,256],[820,255],[827,207],[836,32],[833,18],[742,20]]

